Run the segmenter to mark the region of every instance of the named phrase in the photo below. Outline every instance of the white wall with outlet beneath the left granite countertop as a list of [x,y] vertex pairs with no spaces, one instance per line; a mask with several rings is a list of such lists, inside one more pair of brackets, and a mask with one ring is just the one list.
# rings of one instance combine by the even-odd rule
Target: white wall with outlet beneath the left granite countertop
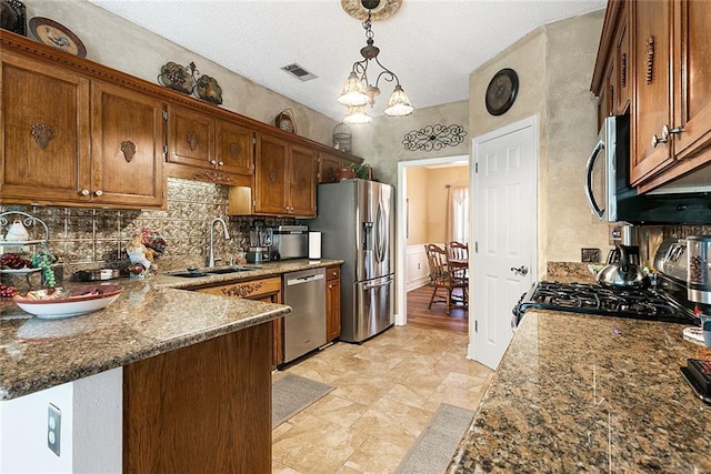
[[[0,402],[0,473],[120,473],[123,370]],[[60,455],[47,446],[49,404],[61,411]]]

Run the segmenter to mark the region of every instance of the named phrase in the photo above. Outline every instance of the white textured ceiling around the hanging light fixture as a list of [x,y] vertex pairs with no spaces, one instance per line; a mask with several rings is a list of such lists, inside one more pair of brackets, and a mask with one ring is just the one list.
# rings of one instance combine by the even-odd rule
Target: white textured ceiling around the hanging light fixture
[[[365,46],[360,21],[339,0],[89,1],[334,120],[344,114],[336,98]],[[398,74],[412,104],[424,108],[467,100],[469,74],[537,27],[605,4],[402,0],[372,30],[380,61]],[[293,62],[317,79],[302,82],[280,69]],[[381,82],[381,89],[373,115],[392,87]]]

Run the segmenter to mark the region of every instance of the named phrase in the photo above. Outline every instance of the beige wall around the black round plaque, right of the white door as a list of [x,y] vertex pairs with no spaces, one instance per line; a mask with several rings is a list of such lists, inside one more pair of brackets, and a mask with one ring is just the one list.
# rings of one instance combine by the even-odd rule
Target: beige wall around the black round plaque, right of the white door
[[[539,121],[539,274],[547,261],[580,261],[580,248],[608,249],[607,225],[588,209],[583,170],[597,137],[595,98],[589,91],[604,11],[532,32],[470,77],[472,137],[509,123]],[[483,97],[502,68],[519,74],[520,90],[503,115],[487,112]]]

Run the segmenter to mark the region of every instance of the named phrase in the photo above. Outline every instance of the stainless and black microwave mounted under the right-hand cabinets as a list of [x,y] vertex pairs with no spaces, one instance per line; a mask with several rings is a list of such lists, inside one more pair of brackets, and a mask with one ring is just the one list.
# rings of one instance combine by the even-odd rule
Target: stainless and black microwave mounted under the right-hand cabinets
[[630,186],[630,118],[610,115],[585,164],[585,196],[601,221],[633,224],[711,223],[708,192],[638,194]]

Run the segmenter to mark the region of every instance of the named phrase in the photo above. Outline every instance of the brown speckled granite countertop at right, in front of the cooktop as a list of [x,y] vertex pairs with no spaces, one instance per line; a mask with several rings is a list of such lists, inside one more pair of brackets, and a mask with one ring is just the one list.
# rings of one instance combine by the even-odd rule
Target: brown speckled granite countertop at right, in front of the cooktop
[[448,472],[711,472],[682,329],[527,311]]

